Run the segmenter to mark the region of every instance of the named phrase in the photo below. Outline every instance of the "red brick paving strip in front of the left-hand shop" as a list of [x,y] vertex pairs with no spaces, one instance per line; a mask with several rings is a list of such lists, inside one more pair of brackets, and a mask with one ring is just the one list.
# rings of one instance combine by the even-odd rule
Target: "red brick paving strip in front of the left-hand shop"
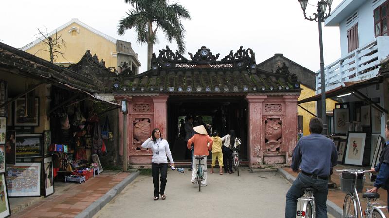
[[38,201],[24,210],[12,214],[10,218],[72,218],[99,199],[130,173],[98,175],[74,188]]

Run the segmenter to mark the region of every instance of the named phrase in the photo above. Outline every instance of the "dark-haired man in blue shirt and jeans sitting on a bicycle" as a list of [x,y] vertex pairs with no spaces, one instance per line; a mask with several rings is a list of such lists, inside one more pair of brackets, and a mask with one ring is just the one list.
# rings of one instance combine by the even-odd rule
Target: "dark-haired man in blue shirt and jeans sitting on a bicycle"
[[304,194],[303,187],[316,189],[316,218],[327,218],[328,176],[337,164],[337,151],[334,142],[321,135],[320,118],[311,119],[309,131],[311,134],[300,138],[293,151],[290,167],[295,172],[300,169],[300,173],[286,194],[285,218],[296,218],[297,199]]

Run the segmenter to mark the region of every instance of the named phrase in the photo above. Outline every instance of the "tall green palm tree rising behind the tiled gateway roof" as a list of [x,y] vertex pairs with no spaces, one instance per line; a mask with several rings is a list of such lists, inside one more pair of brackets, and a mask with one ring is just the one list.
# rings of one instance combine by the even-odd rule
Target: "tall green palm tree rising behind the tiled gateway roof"
[[[124,0],[134,8],[119,21],[118,34],[124,35],[127,29],[135,28],[138,43],[147,43],[147,69],[151,68],[153,45],[156,41],[157,30],[160,27],[168,41],[177,42],[178,51],[185,51],[185,28],[181,19],[190,20],[189,12],[180,4],[169,4],[168,0]],[[155,24],[155,27],[153,27]]]

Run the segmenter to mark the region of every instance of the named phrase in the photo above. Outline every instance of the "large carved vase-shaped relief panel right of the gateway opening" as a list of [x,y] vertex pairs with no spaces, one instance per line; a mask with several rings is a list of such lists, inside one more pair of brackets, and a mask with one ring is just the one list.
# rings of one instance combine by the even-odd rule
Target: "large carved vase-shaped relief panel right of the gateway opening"
[[282,121],[279,118],[265,120],[265,151],[280,151],[282,149]]

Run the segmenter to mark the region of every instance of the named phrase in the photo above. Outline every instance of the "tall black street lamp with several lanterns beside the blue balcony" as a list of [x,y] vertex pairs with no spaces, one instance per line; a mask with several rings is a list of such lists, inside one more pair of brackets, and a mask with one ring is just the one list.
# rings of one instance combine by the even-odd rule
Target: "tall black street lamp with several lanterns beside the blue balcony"
[[[327,19],[328,16],[330,16],[331,13],[331,4],[332,0],[321,0],[318,1],[318,13],[314,13],[314,17],[312,18],[311,16],[307,17],[305,14],[305,9],[307,8],[308,5],[308,0],[298,0],[301,9],[304,12],[304,17],[307,20],[310,21],[316,21],[319,24],[319,44],[320,44],[320,77],[321,77],[321,117],[323,119],[323,135],[327,135],[327,110],[325,106],[325,77],[324,77],[324,57],[323,57],[323,36],[322,36],[322,31],[321,31],[321,23],[324,22],[325,19]],[[325,14],[325,10],[327,9],[328,6],[328,13]]]

